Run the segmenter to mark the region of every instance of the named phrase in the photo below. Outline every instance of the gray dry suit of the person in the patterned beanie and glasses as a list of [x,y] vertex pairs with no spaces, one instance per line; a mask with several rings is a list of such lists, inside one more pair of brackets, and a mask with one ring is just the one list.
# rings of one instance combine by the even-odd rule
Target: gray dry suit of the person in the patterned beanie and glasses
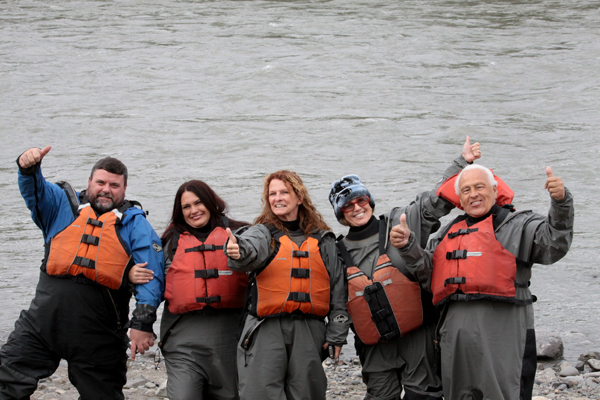
[[[454,160],[446,169],[441,182],[458,173],[467,166],[462,157]],[[437,197],[436,187],[419,194],[407,207],[394,208],[378,221],[372,218],[363,229],[351,228],[343,239],[354,265],[369,277],[373,276],[379,257],[379,223],[387,225],[386,241],[394,225],[400,223],[400,216],[406,214],[406,222],[415,233],[415,239],[425,246],[429,235],[439,226],[439,219],[447,215],[454,206]],[[407,270],[398,249],[386,244],[386,254],[392,264],[409,279],[417,279]],[[438,313],[431,304],[431,294],[421,291],[423,299],[423,325],[402,337],[365,345],[355,340],[357,354],[362,364],[363,381],[367,385],[365,399],[392,400],[400,399],[402,385],[406,392],[405,399],[430,399],[442,396],[441,380],[434,366],[434,330]]]

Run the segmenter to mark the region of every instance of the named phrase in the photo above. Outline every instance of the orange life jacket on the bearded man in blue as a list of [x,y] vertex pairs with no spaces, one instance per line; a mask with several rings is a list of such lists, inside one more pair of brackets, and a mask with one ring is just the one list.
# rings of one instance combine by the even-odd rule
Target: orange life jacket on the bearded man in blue
[[45,263],[48,275],[83,275],[110,289],[118,289],[131,256],[121,244],[116,226],[130,206],[125,203],[100,217],[90,204],[80,206],[75,221],[48,243]]

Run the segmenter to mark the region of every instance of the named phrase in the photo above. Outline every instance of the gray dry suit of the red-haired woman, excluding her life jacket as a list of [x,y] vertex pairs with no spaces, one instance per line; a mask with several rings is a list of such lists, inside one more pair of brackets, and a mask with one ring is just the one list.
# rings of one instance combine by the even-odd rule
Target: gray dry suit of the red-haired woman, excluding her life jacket
[[[321,319],[298,315],[259,320],[248,315],[238,346],[240,397],[244,400],[324,400],[327,377],[321,364],[325,342],[342,346],[350,324],[343,269],[337,257],[335,237],[320,232],[320,253],[330,277],[330,307],[327,324]],[[298,246],[306,240],[302,231],[288,236]],[[253,272],[272,256],[271,232],[255,225],[237,235],[240,258],[229,259],[234,271]],[[226,246],[225,246],[226,247]],[[260,322],[260,325],[256,325]],[[252,343],[241,347],[249,330]]]

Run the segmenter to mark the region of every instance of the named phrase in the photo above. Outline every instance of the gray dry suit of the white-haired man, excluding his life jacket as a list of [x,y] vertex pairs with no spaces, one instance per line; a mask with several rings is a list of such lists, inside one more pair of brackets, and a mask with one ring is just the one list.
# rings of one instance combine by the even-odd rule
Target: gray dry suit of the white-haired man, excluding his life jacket
[[[532,211],[510,213],[494,225],[496,239],[517,258],[516,282],[529,282],[534,263],[552,264],[573,240],[573,197],[551,199],[548,216]],[[496,217],[494,206],[491,210]],[[411,234],[401,250],[408,268],[431,288],[432,256],[445,228],[423,251]],[[526,285],[523,285],[526,286]],[[527,287],[516,300],[530,301]],[[492,300],[449,301],[440,328],[442,384],[446,400],[531,399],[536,370],[533,306]]]

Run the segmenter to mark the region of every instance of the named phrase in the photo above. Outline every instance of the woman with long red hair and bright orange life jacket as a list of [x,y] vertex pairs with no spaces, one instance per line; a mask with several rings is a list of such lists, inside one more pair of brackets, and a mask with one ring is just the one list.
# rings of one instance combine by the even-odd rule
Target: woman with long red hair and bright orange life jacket
[[339,355],[349,325],[335,236],[294,172],[267,176],[262,203],[255,225],[228,230],[226,245],[231,269],[250,272],[240,397],[324,400],[321,354]]

